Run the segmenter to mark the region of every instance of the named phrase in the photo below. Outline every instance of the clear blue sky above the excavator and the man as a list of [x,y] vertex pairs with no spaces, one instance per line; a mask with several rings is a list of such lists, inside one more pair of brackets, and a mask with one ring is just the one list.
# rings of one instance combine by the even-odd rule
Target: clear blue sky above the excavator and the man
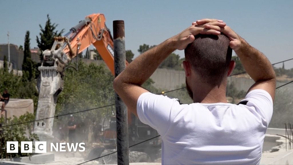
[[[293,1],[0,1],[0,43],[23,45],[30,31],[31,48],[37,47],[39,24],[49,14],[58,29],[69,31],[93,13],[103,13],[113,31],[113,20],[125,21],[126,49],[135,57],[143,43],[156,45],[184,30],[195,20],[224,20],[248,43],[262,51],[272,63],[293,58]],[[64,33],[65,34],[65,33]],[[184,57],[183,51],[176,51]],[[281,65],[277,65],[281,66]],[[293,62],[285,63],[293,68]]]

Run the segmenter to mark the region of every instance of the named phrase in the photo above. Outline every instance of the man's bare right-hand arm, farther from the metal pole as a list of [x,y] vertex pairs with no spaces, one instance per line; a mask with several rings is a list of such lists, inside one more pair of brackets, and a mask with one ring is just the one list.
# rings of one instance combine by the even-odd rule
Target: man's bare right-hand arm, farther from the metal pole
[[276,75],[272,64],[263,53],[250,46],[243,38],[238,36],[230,27],[223,30],[230,38],[230,47],[238,55],[246,72],[255,81],[248,90],[263,89],[267,91],[272,100],[275,98]]

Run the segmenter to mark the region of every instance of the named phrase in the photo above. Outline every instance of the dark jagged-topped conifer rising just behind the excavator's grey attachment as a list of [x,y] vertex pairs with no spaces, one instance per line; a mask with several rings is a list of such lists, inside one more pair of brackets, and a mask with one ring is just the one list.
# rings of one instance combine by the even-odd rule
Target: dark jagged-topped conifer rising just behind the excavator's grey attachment
[[[56,36],[61,36],[64,29],[62,29],[60,32],[56,30],[58,24],[51,23],[51,19],[49,17],[49,14],[47,14],[47,21],[45,24],[45,28],[43,28],[41,25],[40,30],[40,38],[37,36],[37,43],[38,47],[40,48],[41,51],[51,49],[53,43],[54,43],[54,37]],[[40,54],[40,59],[43,60],[42,54]]]

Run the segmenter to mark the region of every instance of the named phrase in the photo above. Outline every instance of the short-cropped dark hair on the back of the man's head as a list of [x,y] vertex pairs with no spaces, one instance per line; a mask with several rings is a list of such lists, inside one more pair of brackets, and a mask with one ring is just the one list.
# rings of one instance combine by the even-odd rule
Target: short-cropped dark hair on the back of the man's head
[[184,50],[185,60],[200,75],[204,83],[219,85],[228,73],[232,49],[224,34],[195,36]]

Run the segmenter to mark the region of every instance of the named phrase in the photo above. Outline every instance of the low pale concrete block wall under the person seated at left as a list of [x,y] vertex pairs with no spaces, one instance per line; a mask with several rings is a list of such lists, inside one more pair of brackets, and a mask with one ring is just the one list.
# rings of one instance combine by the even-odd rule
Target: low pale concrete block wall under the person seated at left
[[[2,106],[2,102],[0,102],[0,106]],[[7,111],[7,118],[19,117],[26,112],[34,113],[34,103],[32,99],[9,99],[5,110]]]

